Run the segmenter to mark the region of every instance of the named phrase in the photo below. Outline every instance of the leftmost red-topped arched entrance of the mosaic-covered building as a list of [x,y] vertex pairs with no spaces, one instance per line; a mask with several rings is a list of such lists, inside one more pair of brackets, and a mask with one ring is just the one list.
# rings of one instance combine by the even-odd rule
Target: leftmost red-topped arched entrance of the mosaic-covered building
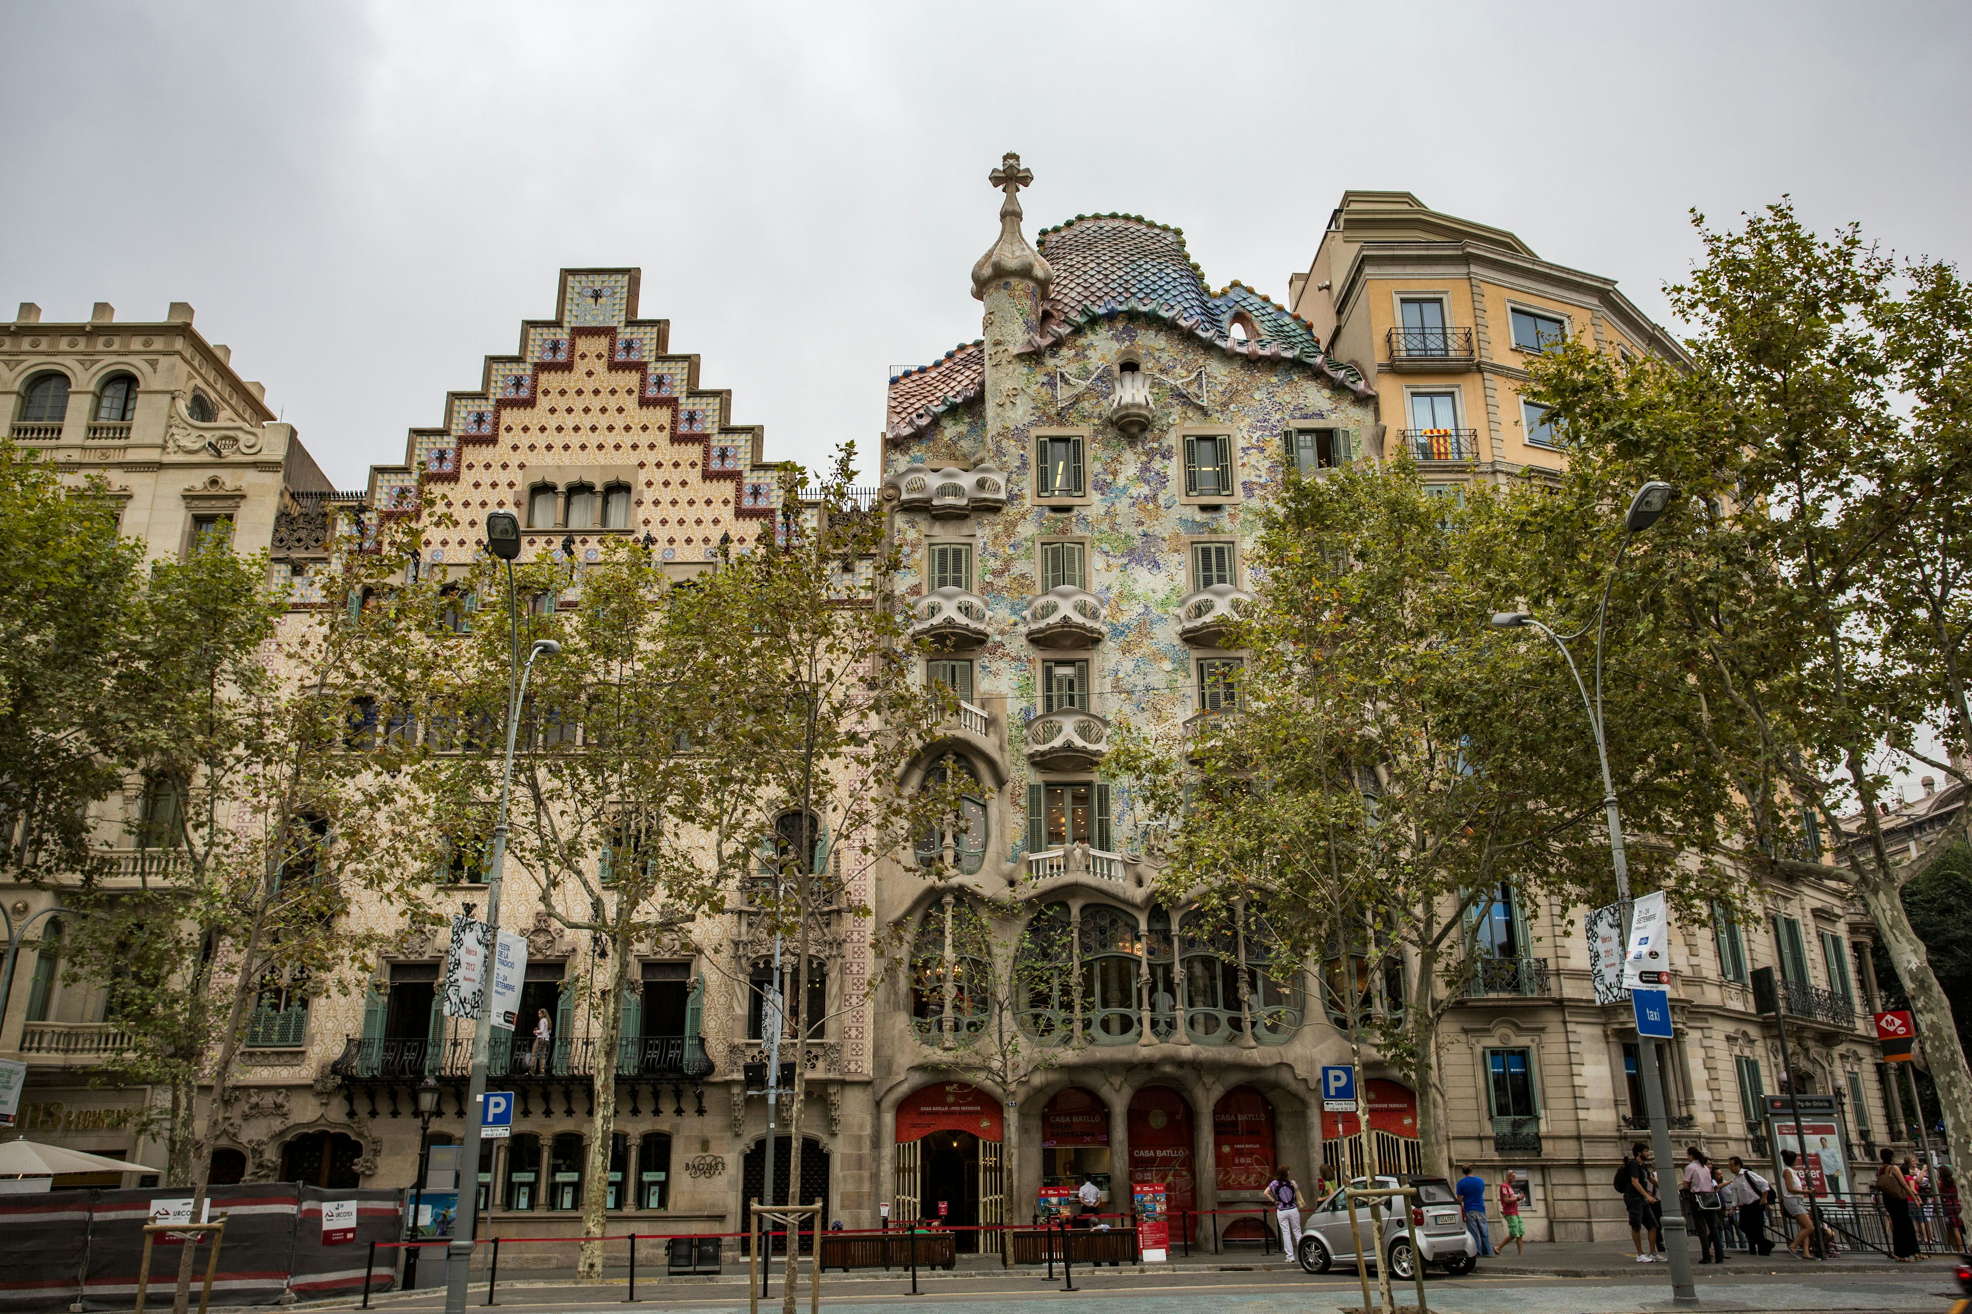
[[[891,1221],[939,1217],[947,1227],[996,1227],[1006,1221],[1006,1170],[1000,1101],[964,1082],[911,1091],[897,1105],[897,1198]],[[939,1208],[943,1206],[943,1210]],[[960,1251],[976,1251],[978,1231],[960,1231]],[[998,1249],[998,1233],[986,1249]]]

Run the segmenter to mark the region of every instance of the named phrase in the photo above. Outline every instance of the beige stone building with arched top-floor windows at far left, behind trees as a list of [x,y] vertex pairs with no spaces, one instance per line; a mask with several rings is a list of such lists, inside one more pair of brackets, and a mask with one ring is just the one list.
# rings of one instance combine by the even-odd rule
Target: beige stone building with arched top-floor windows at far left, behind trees
[[[101,477],[120,504],[122,534],[142,540],[150,556],[181,558],[201,536],[229,534],[243,554],[278,558],[282,526],[325,504],[331,491],[294,426],[274,418],[264,388],[241,378],[231,361],[231,349],[193,327],[183,301],[164,319],[142,321],[118,321],[99,301],[87,321],[67,323],[45,323],[37,305],[24,303],[12,323],[0,323],[0,408],[14,441],[43,453],[73,483]],[[132,778],[93,810],[112,881],[164,875],[162,855],[138,835],[154,804]],[[28,1064],[22,1133],[160,1164],[162,1147],[134,1133],[152,1091],[91,1084],[120,1032],[103,1018],[101,989],[61,981],[61,918],[43,916],[59,892],[0,885],[0,900],[10,924],[28,928],[0,1011],[0,1058]]]

